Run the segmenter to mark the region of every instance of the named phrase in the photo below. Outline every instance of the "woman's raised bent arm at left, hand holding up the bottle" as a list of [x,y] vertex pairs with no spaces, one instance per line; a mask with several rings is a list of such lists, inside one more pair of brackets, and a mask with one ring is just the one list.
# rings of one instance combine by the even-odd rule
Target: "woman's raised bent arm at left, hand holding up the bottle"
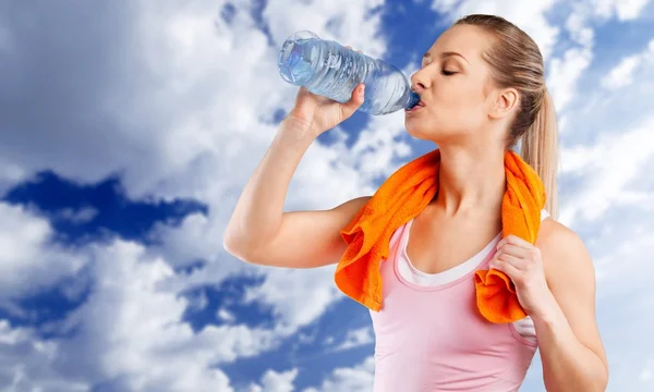
[[360,89],[342,105],[300,89],[295,108],[281,122],[227,225],[223,246],[230,254],[252,264],[287,268],[315,268],[340,260],[346,250],[340,230],[370,196],[319,211],[284,212],[283,205],[302,157],[320,133],[361,106]]

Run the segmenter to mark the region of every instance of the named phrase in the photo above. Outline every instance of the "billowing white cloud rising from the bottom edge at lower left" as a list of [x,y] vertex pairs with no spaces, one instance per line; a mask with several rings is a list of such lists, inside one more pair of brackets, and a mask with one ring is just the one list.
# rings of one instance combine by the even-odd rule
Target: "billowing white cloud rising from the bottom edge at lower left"
[[[75,330],[72,338],[41,341],[35,331],[0,321],[0,357],[12,364],[0,366],[1,385],[77,391],[101,382],[101,390],[231,391],[215,365],[280,343],[279,333],[244,324],[195,333],[182,320],[189,302],[162,289],[173,270],[141,245],[116,241],[88,253],[95,255],[92,293],[51,328],[56,335]],[[267,376],[264,385],[281,385],[282,376]]]

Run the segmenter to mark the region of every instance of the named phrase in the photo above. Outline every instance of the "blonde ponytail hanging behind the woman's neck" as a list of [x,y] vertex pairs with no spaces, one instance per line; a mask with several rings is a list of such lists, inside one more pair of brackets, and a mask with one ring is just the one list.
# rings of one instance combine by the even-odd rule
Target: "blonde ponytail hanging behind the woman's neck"
[[547,89],[536,120],[522,136],[520,155],[538,173],[545,186],[545,209],[553,219],[557,219],[559,215],[556,183],[559,169],[558,127],[556,110]]

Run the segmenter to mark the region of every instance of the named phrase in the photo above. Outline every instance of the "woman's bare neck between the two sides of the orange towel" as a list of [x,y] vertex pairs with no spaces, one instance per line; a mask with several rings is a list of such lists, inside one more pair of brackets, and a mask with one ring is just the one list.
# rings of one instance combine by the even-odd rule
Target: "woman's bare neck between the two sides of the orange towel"
[[449,217],[499,213],[506,193],[505,154],[487,145],[440,148],[438,195],[433,204]]

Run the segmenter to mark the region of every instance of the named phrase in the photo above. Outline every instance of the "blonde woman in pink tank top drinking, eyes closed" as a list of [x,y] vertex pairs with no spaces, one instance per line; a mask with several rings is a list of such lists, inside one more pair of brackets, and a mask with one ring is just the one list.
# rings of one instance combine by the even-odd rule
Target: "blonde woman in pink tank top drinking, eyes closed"
[[[470,15],[440,35],[411,83],[421,106],[405,113],[405,127],[438,145],[438,192],[393,232],[379,267],[375,391],[516,391],[536,348],[548,391],[604,391],[593,264],[555,220],[557,131],[537,46],[504,19]],[[343,105],[300,89],[229,222],[231,254],[287,268],[339,262],[341,230],[371,197],[325,211],[282,208],[307,147],[363,97],[363,86]],[[547,195],[534,244],[500,235],[505,156],[519,140]],[[493,323],[469,306],[482,266],[510,278],[526,317]]]

